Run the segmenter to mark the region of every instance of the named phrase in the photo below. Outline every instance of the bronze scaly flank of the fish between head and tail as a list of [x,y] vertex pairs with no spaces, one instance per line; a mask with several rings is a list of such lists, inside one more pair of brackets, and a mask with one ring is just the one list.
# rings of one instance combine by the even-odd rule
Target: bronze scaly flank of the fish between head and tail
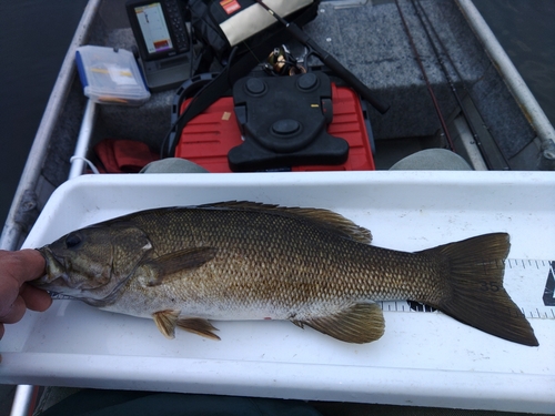
[[[172,297],[194,294],[199,302],[223,298],[240,311],[273,305],[289,312],[314,301],[425,298],[435,290],[415,273],[426,271],[430,280],[434,267],[426,258],[363,245],[294,219],[225,210],[169,211],[155,219],[144,216],[139,224],[161,253],[186,246],[219,250],[212,262],[171,286]],[[160,222],[169,224],[168,234],[158,232]],[[407,257],[406,266],[397,266],[400,254]]]

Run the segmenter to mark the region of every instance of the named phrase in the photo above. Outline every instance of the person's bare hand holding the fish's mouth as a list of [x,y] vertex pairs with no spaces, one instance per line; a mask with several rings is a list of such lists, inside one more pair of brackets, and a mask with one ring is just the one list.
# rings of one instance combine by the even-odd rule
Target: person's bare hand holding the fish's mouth
[[37,250],[0,250],[0,338],[3,324],[20,321],[27,310],[43,312],[52,304],[50,295],[26,282],[42,276],[44,257]]

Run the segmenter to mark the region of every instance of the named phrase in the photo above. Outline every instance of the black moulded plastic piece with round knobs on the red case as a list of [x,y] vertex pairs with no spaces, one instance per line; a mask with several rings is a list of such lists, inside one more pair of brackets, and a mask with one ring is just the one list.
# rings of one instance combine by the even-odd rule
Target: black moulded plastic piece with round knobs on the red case
[[322,72],[248,77],[233,85],[235,116],[244,142],[230,150],[234,172],[342,164],[349,143],[327,134],[332,88]]

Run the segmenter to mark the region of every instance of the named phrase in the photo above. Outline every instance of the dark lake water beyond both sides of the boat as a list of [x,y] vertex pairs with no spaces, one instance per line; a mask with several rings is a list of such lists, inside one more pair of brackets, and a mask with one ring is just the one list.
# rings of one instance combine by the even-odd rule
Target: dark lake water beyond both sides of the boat
[[[555,123],[555,0],[474,2]],[[0,0],[0,224],[85,4]]]

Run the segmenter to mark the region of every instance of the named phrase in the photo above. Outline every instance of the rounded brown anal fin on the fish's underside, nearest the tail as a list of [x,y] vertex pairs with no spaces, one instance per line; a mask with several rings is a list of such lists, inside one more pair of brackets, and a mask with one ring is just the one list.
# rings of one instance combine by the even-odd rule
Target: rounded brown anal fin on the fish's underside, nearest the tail
[[383,313],[375,303],[357,303],[334,315],[304,321],[292,321],[303,324],[346,343],[365,344],[379,339],[385,328]]

